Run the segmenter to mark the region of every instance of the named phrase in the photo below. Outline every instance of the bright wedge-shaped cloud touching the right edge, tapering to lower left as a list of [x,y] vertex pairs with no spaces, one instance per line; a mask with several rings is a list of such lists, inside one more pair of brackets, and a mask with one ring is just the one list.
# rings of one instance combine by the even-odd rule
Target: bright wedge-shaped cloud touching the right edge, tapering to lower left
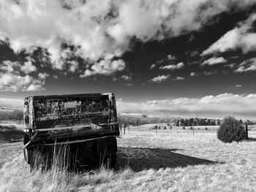
[[238,23],[236,28],[222,36],[217,42],[204,50],[202,55],[211,53],[223,53],[228,50],[236,50],[241,48],[244,53],[256,50],[256,33],[251,32],[253,23],[256,20],[256,14],[249,16],[244,22]]

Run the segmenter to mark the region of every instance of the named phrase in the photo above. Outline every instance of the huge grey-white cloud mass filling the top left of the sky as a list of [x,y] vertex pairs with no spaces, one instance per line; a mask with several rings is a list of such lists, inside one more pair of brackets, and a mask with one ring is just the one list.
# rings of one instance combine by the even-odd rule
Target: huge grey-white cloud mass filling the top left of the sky
[[[215,15],[253,4],[248,0],[1,1],[0,38],[15,53],[47,50],[52,68],[63,70],[74,56],[83,58],[84,66],[98,64],[106,54],[118,59],[129,50],[132,37],[142,42],[177,37],[200,30]],[[71,65],[69,72],[76,69]],[[90,74],[97,72],[89,69],[81,76]]]

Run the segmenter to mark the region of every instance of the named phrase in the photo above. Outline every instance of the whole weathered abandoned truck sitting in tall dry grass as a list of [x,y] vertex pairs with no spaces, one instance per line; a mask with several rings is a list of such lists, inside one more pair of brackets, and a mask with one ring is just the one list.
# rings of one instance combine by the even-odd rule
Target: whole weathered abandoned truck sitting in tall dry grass
[[31,169],[51,165],[56,146],[68,149],[72,169],[91,169],[102,159],[115,166],[119,128],[113,93],[29,96],[23,107],[23,152]]

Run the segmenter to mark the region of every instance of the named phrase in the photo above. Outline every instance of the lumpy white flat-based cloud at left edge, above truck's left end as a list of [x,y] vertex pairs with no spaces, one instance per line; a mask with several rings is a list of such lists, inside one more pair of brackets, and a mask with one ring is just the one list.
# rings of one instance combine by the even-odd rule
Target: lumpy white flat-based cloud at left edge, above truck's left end
[[[0,91],[42,91],[42,85],[48,77],[46,73],[39,73],[35,78],[29,73],[36,70],[33,65],[27,61],[23,65],[17,61],[3,61],[0,66]],[[21,74],[20,72],[23,72]]]

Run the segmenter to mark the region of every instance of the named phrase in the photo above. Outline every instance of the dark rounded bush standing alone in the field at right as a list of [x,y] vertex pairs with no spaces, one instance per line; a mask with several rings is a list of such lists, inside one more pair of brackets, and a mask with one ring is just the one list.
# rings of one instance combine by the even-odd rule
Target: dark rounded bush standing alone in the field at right
[[239,142],[245,139],[245,131],[239,120],[228,116],[224,118],[222,124],[219,126],[217,137],[222,142]]

